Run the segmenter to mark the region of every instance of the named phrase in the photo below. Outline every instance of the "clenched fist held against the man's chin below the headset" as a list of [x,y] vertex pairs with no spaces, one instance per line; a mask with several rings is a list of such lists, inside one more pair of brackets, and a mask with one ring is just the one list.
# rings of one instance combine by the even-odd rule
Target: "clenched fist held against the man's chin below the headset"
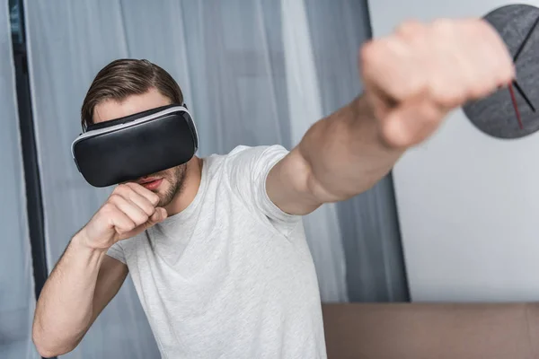
[[167,217],[156,207],[159,197],[137,183],[121,184],[81,230],[84,244],[107,250],[117,241],[133,237]]

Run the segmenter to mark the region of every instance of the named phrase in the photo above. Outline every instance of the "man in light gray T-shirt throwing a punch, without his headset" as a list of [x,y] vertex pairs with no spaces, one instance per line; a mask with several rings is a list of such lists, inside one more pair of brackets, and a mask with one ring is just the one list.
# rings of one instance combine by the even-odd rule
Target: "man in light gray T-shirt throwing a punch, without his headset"
[[[365,93],[289,153],[239,146],[115,188],[43,288],[40,354],[73,350],[129,272],[163,357],[325,357],[301,216],[367,190],[448,111],[515,76],[498,34],[473,19],[403,23],[359,62]],[[161,68],[119,60],[97,74],[82,118],[182,101]]]

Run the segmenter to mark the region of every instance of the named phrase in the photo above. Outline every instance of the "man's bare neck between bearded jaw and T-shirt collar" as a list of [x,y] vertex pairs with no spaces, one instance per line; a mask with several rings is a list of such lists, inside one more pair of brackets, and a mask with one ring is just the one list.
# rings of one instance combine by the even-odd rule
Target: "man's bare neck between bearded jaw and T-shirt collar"
[[183,188],[172,198],[171,203],[164,207],[169,216],[179,214],[192,203],[195,197],[197,197],[197,193],[199,193],[201,179],[202,160],[194,156],[190,159],[190,162],[187,162]]

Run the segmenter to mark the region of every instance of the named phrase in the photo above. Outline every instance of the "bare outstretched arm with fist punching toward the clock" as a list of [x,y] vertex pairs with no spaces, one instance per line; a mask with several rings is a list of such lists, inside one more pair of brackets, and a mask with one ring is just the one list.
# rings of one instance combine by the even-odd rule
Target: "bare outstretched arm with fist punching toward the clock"
[[270,171],[266,188],[284,212],[306,215],[381,180],[446,114],[511,82],[515,69],[482,20],[407,22],[361,49],[365,93],[316,122]]

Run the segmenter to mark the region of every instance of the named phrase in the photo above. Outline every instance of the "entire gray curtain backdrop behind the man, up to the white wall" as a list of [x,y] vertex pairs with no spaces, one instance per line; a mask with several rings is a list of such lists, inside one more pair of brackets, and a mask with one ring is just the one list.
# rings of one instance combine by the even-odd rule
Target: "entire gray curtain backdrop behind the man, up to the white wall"
[[[93,76],[146,58],[180,84],[200,155],[238,144],[291,149],[361,92],[371,37],[360,0],[9,0],[0,4],[0,357],[39,358],[36,297],[71,236],[108,197],[70,145]],[[305,217],[323,302],[407,302],[391,176]],[[128,279],[65,358],[157,358]]]

